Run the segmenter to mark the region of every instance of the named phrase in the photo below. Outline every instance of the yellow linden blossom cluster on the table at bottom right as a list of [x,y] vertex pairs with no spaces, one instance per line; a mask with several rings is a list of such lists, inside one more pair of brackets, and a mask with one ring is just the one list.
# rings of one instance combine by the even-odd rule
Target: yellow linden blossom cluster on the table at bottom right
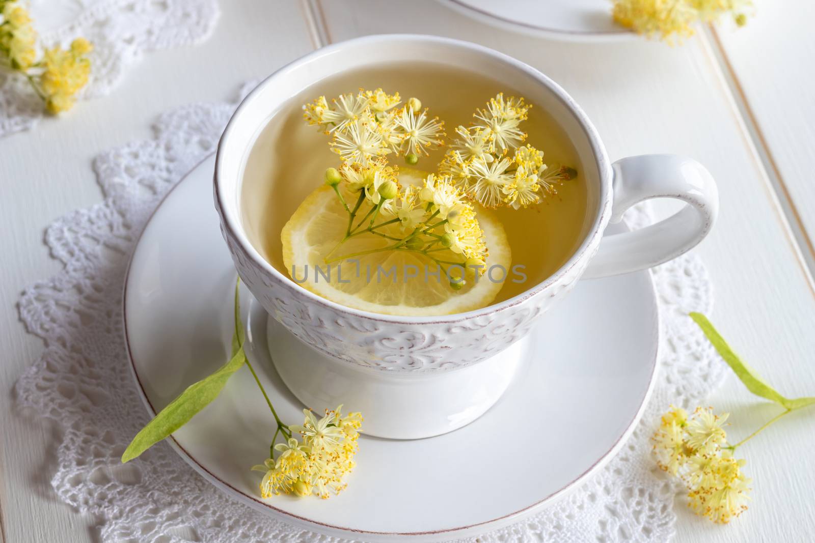
[[652,438],[657,465],[682,480],[690,508],[721,524],[747,510],[751,490],[742,473],[745,461],[734,459],[734,447],[727,444],[728,416],[701,407],[688,416],[672,406]]

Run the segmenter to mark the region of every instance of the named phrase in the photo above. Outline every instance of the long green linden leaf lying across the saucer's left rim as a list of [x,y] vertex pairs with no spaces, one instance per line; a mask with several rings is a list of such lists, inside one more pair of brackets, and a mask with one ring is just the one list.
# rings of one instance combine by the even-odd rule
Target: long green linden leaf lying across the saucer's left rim
[[129,462],[154,444],[170,436],[178,428],[187,424],[201,409],[221,393],[227,380],[246,363],[243,348],[244,329],[240,322],[240,300],[238,285],[235,287],[235,333],[232,335],[232,357],[213,374],[190,385],[174,401],[170,402],[147,426],[133,438],[121,455],[121,462]]

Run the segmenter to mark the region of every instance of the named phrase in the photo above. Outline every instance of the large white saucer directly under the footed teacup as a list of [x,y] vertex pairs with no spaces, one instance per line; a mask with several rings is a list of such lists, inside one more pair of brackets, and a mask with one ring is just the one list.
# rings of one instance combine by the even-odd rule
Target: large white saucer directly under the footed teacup
[[[170,192],[130,263],[126,339],[151,414],[227,357],[236,274],[218,231],[213,167],[205,160]],[[281,418],[301,423],[302,405],[268,355],[266,313],[248,292],[243,309],[250,360]],[[218,488],[315,532],[364,541],[478,535],[540,510],[622,446],[654,383],[658,336],[649,274],[580,282],[531,334],[529,360],[487,414],[425,440],[363,436],[349,487],[328,500],[259,497],[262,475],[249,467],[267,458],[274,423],[249,370],[170,442]]]

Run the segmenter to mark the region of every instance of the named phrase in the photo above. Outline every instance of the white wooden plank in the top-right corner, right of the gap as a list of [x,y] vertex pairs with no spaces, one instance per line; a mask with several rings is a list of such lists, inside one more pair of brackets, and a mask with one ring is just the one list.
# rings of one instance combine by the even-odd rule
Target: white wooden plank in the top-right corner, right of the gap
[[759,2],[747,26],[711,33],[770,180],[815,273],[813,2]]

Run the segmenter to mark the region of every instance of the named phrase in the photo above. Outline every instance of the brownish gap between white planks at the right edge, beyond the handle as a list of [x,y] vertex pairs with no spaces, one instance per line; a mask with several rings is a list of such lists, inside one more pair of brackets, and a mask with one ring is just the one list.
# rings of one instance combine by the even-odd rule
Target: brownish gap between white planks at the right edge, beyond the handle
[[804,274],[809,290],[815,295],[815,243],[809,237],[801,220],[800,212],[795,206],[795,202],[787,189],[786,182],[782,177],[778,163],[770,151],[764,133],[756,119],[747,95],[744,93],[741,82],[733,68],[733,64],[722,46],[716,28],[711,24],[703,27],[702,33],[703,47],[711,59],[711,64],[716,70],[716,75],[720,78],[725,93],[734,108],[734,114],[738,120],[742,134],[745,137],[747,146],[751,154],[756,159],[756,163],[762,173],[765,186],[773,200],[773,208],[778,212],[778,218],[782,222],[783,230],[786,234],[796,260]]

